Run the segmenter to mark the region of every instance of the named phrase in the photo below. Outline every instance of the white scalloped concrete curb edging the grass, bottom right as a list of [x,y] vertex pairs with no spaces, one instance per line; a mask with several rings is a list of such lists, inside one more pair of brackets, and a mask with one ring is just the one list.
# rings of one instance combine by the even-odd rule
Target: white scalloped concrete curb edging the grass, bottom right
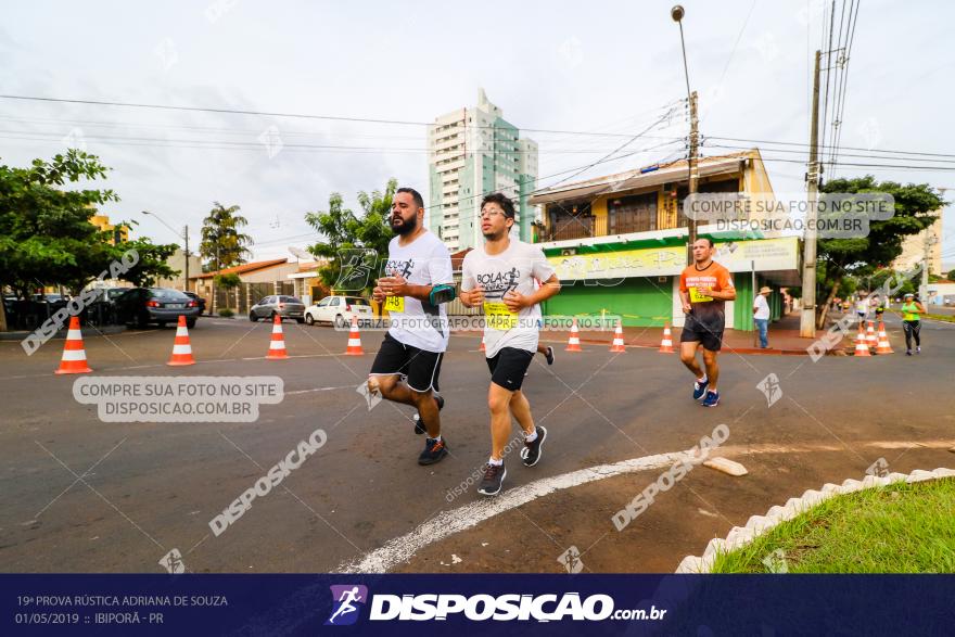
[[765,515],[753,515],[746,526],[734,526],[730,528],[726,539],[714,538],[706,545],[701,557],[687,556],[676,568],[676,573],[710,573],[716,555],[721,552],[729,552],[752,543],[759,536],[767,533],[780,522],[792,520],[800,513],[812,509],[831,497],[851,494],[865,488],[877,486],[887,486],[896,482],[906,482],[908,484],[915,482],[925,482],[927,480],[937,480],[939,477],[955,477],[955,469],[939,468],[934,471],[924,471],[916,469],[908,475],[904,473],[890,473],[884,477],[876,475],[867,475],[864,480],[849,479],[840,484],[827,483],[819,491],[810,489],[802,494],[799,498],[789,498],[786,505],[771,508]]

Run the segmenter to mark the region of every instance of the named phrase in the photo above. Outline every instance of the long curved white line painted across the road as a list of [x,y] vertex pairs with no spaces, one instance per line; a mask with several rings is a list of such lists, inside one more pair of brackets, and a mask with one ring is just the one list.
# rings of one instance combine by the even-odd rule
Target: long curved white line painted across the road
[[[926,447],[939,448],[951,446],[953,441],[927,441]],[[900,441],[873,441],[857,443],[860,446],[886,448],[890,445],[911,446],[911,442]],[[793,445],[782,447],[780,445],[750,445],[750,446],[724,446],[720,447],[720,456],[754,455],[754,454],[803,454],[819,451],[842,451],[837,445]],[[386,573],[396,565],[410,560],[415,553],[435,542],[441,542],[461,531],[467,531],[498,515],[517,509],[518,507],[550,495],[555,492],[573,488],[589,482],[596,482],[607,477],[662,469],[672,466],[679,459],[690,459],[693,454],[690,450],[670,454],[657,454],[633,458],[612,464],[599,464],[589,469],[581,469],[561,475],[543,477],[529,484],[511,488],[492,499],[480,499],[467,504],[457,509],[442,511],[433,519],[418,525],[413,531],[389,540],[379,549],[375,549],[356,560],[341,563],[333,573]],[[480,497],[480,496],[475,496]],[[609,522],[609,521],[608,521]]]

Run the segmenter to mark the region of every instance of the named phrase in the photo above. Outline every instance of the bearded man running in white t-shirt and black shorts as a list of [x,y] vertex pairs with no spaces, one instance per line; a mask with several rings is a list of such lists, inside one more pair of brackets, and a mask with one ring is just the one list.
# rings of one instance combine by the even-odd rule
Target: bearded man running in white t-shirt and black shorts
[[[424,201],[411,188],[399,188],[392,202],[392,230],[384,276],[373,296],[385,303],[392,324],[371,365],[370,392],[395,403],[413,405],[420,421],[416,433],[424,433],[419,464],[434,464],[447,455],[441,436],[441,408],[436,395],[441,359],[447,349],[448,323],[443,305],[432,305],[431,290],[454,283],[451,257],[437,237],[424,229]],[[404,380],[403,380],[404,379]]]

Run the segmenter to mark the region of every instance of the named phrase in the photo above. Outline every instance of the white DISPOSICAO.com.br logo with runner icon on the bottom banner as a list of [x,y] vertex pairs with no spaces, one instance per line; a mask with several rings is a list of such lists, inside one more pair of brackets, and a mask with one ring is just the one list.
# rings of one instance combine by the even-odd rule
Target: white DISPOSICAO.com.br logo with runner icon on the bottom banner
[[[368,600],[368,589],[358,585],[332,586],[332,614],[326,625],[354,624],[359,607]],[[614,609],[609,595],[581,598],[578,593],[562,595],[505,594],[472,596],[456,594],[374,595],[368,614],[369,621],[445,621],[449,615],[462,615],[472,622],[536,621],[559,622],[576,620],[663,620],[665,609]]]

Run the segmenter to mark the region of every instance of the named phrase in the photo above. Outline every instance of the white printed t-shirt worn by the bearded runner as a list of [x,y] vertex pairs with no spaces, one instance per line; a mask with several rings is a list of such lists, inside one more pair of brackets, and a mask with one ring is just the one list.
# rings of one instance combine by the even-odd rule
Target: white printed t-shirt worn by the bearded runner
[[[425,231],[408,245],[398,237],[389,243],[382,276],[402,275],[412,285],[454,283],[451,255],[433,232]],[[425,352],[447,349],[448,322],[444,305],[431,305],[410,296],[392,297],[385,308],[391,317],[389,333],[397,341]]]

